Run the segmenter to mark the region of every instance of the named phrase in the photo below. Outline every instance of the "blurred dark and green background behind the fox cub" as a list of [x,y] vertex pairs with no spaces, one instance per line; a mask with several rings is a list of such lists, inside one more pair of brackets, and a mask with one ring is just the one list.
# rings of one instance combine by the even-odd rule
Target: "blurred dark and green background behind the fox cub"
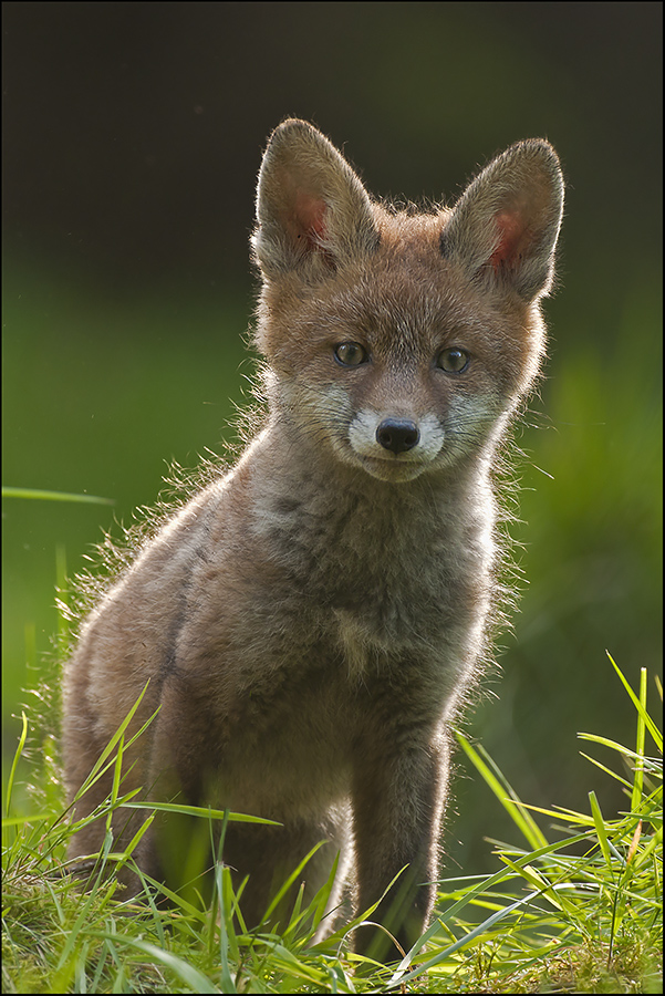
[[[661,3],[4,3],[3,729],[58,631],[55,584],[224,452],[267,136],[316,124],[376,195],[454,201],[510,143],[568,180],[548,380],[518,433],[528,584],[467,730],[528,802],[607,813],[580,730],[633,745],[661,666]],[[647,746],[650,749],[650,746]],[[595,756],[612,764],[610,751]],[[594,753],[593,750],[591,753]],[[447,871],[508,818],[458,758]],[[543,824],[547,821],[543,818]]]

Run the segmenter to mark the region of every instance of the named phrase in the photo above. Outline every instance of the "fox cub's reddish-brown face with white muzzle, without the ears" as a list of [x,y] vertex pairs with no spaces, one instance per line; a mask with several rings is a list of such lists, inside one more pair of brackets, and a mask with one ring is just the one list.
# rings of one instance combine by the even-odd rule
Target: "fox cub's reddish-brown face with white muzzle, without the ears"
[[291,299],[283,325],[272,311],[273,404],[318,446],[381,480],[476,453],[512,406],[528,359],[512,317],[443,258],[440,227],[403,219],[399,238],[384,231],[362,269]]

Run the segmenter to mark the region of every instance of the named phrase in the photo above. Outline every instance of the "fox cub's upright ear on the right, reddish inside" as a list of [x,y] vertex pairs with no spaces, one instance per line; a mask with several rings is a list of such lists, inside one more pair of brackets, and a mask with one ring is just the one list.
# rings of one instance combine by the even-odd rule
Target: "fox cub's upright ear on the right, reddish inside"
[[557,153],[518,142],[467,187],[441,235],[441,251],[471,279],[509,284],[524,301],[551,287],[563,211]]

